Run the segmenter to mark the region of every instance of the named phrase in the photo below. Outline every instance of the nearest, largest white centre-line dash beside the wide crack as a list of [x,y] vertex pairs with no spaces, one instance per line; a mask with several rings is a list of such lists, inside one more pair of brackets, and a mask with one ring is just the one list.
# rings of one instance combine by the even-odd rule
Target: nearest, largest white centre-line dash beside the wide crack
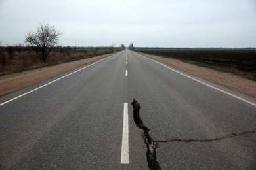
[[121,148],[121,164],[129,164],[128,103],[124,103],[123,105],[123,139]]

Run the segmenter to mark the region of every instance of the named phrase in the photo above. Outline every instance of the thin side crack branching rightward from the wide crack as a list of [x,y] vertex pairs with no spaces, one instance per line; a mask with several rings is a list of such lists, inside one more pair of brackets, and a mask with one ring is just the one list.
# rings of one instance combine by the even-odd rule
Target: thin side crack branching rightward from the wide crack
[[216,142],[216,141],[221,141],[223,139],[228,139],[228,138],[231,138],[231,137],[238,137],[238,136],[242,136],[242,135],[248,135],[248,134],[251,134],[251,133],[256,133],[256,129],[253,129],[251,131],[243,131],[241,133],[232,133],[230,135],[226,135],[226,136],[223,136],[223,137],[216,137],[216,138],[213,138],[213,139],[168,139],[168,140],[158,140],[156,142],[158,143],[172,143],[172,142],[185,142],[185,143],[190,143],[190,142],[202,142],[202,143],[207,143],[207,142]]

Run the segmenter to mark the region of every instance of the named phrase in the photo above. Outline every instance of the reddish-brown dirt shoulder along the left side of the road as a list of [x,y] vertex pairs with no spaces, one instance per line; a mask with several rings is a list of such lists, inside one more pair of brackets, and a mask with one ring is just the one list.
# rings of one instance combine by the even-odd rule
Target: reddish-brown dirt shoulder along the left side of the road
[[83,65],[89,65],[95,61],[111,56],[112,54],[105,54],[93,58],[82,59],[79,61],[72,61],[70,63],[63,63],[42,69],[35,69],[24,73],[14,75],[7,75],[0,77],[0,97],[12,92],[16,92],[38,82],[43,82],[49,78],[66,73]]

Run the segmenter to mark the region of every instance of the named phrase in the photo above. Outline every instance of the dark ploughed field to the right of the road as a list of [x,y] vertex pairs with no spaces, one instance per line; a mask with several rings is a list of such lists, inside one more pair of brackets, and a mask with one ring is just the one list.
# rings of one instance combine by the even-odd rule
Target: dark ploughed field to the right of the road
[[137,52],[181,61],[256,82],[255,48],[136,48]]

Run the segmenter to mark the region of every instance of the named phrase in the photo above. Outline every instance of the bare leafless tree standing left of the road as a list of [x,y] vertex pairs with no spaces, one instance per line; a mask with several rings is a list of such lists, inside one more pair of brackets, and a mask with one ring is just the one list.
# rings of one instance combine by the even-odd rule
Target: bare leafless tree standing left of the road
[[56,31],[54,26],[40,24],[37,27],[37,32],[28,32],[24,42],[29,43],[37,52],[37,56],[45,62],[54,46],[58,44],[58,38],[61,34]]

